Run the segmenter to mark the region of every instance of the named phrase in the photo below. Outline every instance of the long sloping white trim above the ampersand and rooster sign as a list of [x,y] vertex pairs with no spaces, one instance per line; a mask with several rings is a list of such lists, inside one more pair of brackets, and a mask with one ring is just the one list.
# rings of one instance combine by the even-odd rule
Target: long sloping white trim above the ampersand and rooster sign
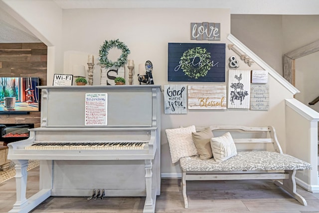
[[283,76],[281,76],[278,72],[276,72],[276,70],[271,68],[271,66],[269,66],[265,61],[263,61],[260,57],[258,57],[247,46],[245,46],[242,42],[240,42],[235,36],[233,36],[232,34],[229,34],[227,38],[229,41],[235,44],[236,47],[238,47],[241,51],[243,51],[243,54],[246,54],[259,66],[267,70],[271,76],[273,76],[279,83],[285,86],[291,93],[295,95],[296,93],[300,92],[296,87],[294,87],[291,83],[289,83]]

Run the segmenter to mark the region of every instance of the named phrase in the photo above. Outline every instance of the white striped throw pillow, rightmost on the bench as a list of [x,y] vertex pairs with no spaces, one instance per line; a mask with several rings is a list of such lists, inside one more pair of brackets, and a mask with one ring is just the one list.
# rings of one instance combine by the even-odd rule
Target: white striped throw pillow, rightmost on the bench
[[225,161],[237,155],[234,140],[229,132],[220,137],[211,138],[210,146],[216,162]]

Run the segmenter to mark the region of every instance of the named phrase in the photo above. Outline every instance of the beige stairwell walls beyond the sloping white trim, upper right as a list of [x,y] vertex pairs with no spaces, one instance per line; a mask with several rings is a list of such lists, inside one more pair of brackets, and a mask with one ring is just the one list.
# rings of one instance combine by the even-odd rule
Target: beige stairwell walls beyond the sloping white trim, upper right
[[[279,74],[282,56],[319,39],[319,15],[231,15],[231,33]],[[296,59],[296,99],[308,105],[319,96],[319,52]],[[319,103],[310,107],[319,112]]]

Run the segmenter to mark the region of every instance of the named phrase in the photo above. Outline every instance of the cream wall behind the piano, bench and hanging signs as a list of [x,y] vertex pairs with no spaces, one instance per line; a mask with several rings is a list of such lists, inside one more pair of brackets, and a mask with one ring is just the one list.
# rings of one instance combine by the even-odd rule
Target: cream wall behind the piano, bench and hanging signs
[[[69,9],[63,12],[63,51],[68,54],[71,51],[95,54],[95,64],[97,64],[98,51],[104,40],[119,38],[130,48],[129,59],[133,59],[136,66],[139,63],[145,63],[146,60],[153,62],[155,84],[164,85],[168,83],[167,43],[196,42],[190,40],[190,23],[202,21],[221,22],[222,40],[220,42],[226,43],[227,46],[229,41],[226,37],[230,32],[228,9]],[[235,54],[228,48],[226,50],[227,59]],[[83,63],[86,62],[83,61]],[[65,63],[68,62],[65,61]],[[245,66],[243,61],[241,64],[241,69],[260,69],[256,64],[252,67]],[[67,70],[70,66],[65,65],[65,67],[64,72],[70,72]],[[128,71],[127,68],[126,70]],[[99,72],[100,68],[96,65],[94,84],[100,83]],[[133,84],[138,84],[137,73],[136,69]],[[165,129],[177,128],[180,125],[273,125],[277,129],[279,140],[285,150],[284,99],[292,98],[292,94],[272,77],[269,79],[269,85],[271,102],[268,112],[238,109],[189,110],[187,115],[167,115],[163,114],[162,109],[161,173],[172,176],[180,172],[178,165],[172,165],[170,162],[169,147],[164,134]],[[276,95],[278,91],[281,91],[280,96]]]

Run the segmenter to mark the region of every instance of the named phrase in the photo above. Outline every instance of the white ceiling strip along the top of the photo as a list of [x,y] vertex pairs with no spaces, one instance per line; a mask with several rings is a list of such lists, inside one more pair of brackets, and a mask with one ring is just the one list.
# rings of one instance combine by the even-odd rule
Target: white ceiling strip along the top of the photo
[[287,0],[148,0],[147,3],[146,0],[54,0],[54,2],[63,9],[230,8],[231,14],[319,14],[318,0],[289,0],[289,3]]

